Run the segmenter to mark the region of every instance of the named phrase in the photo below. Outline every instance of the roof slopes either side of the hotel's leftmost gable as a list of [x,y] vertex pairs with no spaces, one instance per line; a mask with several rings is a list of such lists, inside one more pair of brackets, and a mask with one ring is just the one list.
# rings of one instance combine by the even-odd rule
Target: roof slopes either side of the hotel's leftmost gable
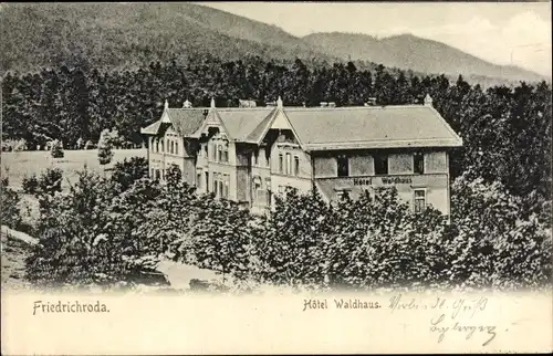
[[[205,111],[207,108],[166,108],[164,114],[167,114],[175,130],[181,135],[187,136],[196,132],[204,123]],[[154,124],[142,128],[142,134],[157,135],[161,127],[161,119]]]

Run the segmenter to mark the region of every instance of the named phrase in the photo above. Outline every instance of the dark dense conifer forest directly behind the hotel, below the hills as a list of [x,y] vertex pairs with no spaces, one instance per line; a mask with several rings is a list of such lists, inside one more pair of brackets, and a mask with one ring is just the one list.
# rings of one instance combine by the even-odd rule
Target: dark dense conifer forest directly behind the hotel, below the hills
[[434,106],[462,137],[451,154],[451,174],[465,171],[486,181],[501,181],[517,196],[550,197],[551,84],[546,82],[487,90],[461,76],[417,76],[378,65],[374,71],[353,62],[331,65],[276,64],[260,57],[225,62],[216,56],[190,57],[186,65],[152,63],[137,70],[90,67],[8,73],[2,83],[2,140],[24,139],[28,149],[60,139],[65,148],[96,143],[103,129],[117,130],[128,144],[142,144],[144,127],[160,117],[165,100],[181,107],[238,106],[251,98],[258,106],[279,95],[285,106],[378,105],[421,103]]

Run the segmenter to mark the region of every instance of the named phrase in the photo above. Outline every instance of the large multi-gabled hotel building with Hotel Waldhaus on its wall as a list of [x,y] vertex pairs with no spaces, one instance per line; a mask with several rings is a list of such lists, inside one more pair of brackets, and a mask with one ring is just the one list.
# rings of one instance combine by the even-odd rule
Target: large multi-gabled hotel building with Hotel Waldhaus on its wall
[[461,138],[424,105],[182,108],[165,104],[142,129],[149,171],[164,178],[177,165],[200,192],[263,211],[286,186],[316,187],[333,201],[371,187],[395,186],[415,211],[428,205],[449,214],[448,150]]

